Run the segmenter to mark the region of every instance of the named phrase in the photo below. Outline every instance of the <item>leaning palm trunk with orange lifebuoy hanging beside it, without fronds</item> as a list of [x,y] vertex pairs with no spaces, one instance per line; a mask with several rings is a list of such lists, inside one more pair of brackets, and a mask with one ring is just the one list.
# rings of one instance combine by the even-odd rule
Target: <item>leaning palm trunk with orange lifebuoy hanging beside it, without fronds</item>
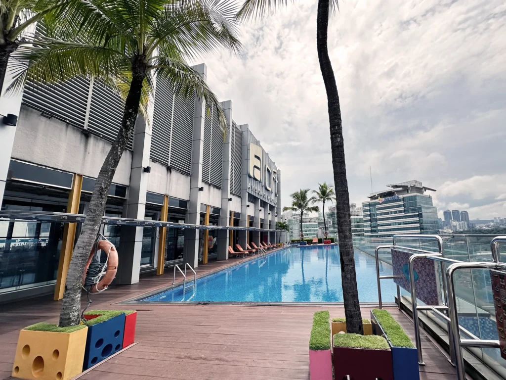
[[67,273],[65,292],[63,293],[62,309],[60,313],[60,327],[67,327],[79,324],[81,310],[81,283],[86,261],[90,255],[93,243],[97,238],[102,216],[104,215],[107,194],[111,185],[112,177],[116,171],[123,150],[128,143],[135,128],[141,90],[144,75],[134,76],[130,85],[130,91],[126,97],[123,110],[121,128],[112,143],[111,150],[107,155],[100,173],[93,188],[90,207],[86,214],[85,222],[82,224],[81,234],[77,239],[72,260]]

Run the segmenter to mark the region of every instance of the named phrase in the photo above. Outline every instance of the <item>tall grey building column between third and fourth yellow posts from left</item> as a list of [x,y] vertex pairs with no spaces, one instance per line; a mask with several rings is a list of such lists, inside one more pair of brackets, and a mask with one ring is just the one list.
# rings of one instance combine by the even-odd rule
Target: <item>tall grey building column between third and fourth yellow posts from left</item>
[[[229,198],[230,198],[230,169],[232,167],[232,101],[222,102],[225,116],[227,117],[227,136],[223,144],[222,161],[222,207],[220,215],[220,225],[229,226]],[[218,260],[228,259],[229,234],[227,230],[218,231]]]

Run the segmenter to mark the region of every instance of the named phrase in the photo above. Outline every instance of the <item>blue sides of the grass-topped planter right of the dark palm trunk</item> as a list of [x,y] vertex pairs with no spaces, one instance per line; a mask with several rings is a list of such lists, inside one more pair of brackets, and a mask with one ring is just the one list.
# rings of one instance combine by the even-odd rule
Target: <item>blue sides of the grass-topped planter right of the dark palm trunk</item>
[[392,350],[392,365],[394,369],[394,380],[419,380],[418,353],[415,348],[394,347],[385,334],[385,331],[374,317],[371,311],[372,333],[382,335],[387,339]]

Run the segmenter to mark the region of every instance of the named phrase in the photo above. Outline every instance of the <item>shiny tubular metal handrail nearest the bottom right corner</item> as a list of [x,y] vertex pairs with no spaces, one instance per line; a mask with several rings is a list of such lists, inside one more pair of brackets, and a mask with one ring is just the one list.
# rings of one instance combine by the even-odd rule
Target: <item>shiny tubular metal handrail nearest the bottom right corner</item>
[[[501,237],[499,241],[506,241],[506,237]],[[497,257],[497,256],[495,256]],[[481,348],[499,348],[499,340],[488,339],[460,339],[458,313],[457,313],[457,299],[455,297],[455,290],[453,286],[453,275],[457,270],[461,269],[506,269],[506,264],[501,262],[458,262],[451,264],[446,270],[446,280],[448,283],[449,295],[449,314],[452,337],[450,338],[451,345],[455,352],[455,369],[457,372],[458,380],[466,380],[466,371],[464,368],[464,359],[462,356],[462,347],[481,347]],[[473,335],[473,337],[475,337]]]

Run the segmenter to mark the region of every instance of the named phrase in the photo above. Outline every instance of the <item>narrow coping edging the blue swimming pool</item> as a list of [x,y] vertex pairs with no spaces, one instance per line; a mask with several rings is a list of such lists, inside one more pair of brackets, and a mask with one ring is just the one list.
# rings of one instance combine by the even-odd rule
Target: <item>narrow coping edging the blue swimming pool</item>
[[[335,245],[337,245],[337,244],[335,244]],[[320,245],[320,247],[323,247],[323,246],[330,246],[330,244]],[[289,249],[290,247],[291,246],[275,249],[275,250],[268,252],[267,254],[262,255],[262,256],[257,254],[256,256],[251,256],[248,259],[243,260],[241,262],[232,262],[229,265],[225,265],[224,267],[215,269],[213,271],[209,271],[209,272],[201,274],[201,275],[197,274],[196,281],[198,281],[202,278],[208,277],[208,276],[215,275],[219,272],[226,271],[226,270],[233,268],[233,267],[239,267],[240,265],[244,265],[254,259],[259,259],[262,257],[270,256],[273,253],[277,253],[277,252]],[[294,247],[298,247],[298,246],[294,246]],[[362,252],[361,250],[359,250],[359,251]],[[119,302],[111,303],[111,305],[145,305],[145,306],[148,306],[148,305],[164,305],[164,306],[171,306],[171,305],[213,306],[213,305],[216,305],[216,306],[313,306],[313,307],[318,306],[318,305],[321,305],[322,307],[344,306],[344,302],[322,302],[322,301],[315,301],[315,302],[309,302],[309,301],[308,302],[292,302],[292,301],[287,301],[287,302],[283,302],[283,301],[258,302],[257,301],[257,302],[255,302],[255,301],[250,301],[250,302],[248,302],[248,301],[142,301],[142,300],[140,300],[141,298],[147,298],[147,297],[153,296],[157,293],[161,293],[161,292],[164,292],[167,290],[172,290],[172,289],[178,288],[178,287],[182,286],[183,283],[184,283],[184,281],[179,281],[179,282],[177,282],[175,284],[171,284],[169,286],[161,286],[157,289],[147,291],[147,292],[142,293],[140,295],[130,297],[130,298],[124,299]],[[385,302],[384,301],[383,305],[385,307],[394,307],[394,306],[397,307],[397,303],[395,303],[395,302]],[[364,307],[377,308],[377,307],[379,307],[379,303],[378,302],[363,302],[363,301],[361,301],[360,306],[361,307],[364,306]]]

